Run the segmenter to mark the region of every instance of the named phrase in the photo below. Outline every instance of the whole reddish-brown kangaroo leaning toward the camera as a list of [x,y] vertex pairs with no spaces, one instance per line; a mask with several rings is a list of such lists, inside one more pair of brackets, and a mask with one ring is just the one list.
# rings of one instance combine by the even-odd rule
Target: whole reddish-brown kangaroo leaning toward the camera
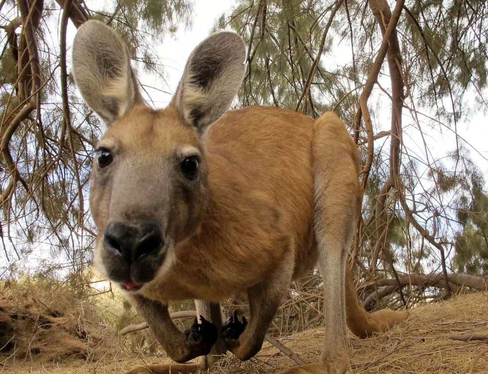
[[[325,344],[320,361],[288,373],[352,373],[346,326],[361,337],[408,312],[369,314],[346,264],[360,213],[360,154],[334,114],[274,107],[228,111],[244,78],[245,45],[217,32],[191,53],[171,103],[150,108],[118,34],[96,20],[73,43],[73,75],[106,132],[96,146],[90,209],[94,263],[125,292],[177,363],[131,374],[197,373],[263,344],[290,282],[319,265]],[[223,322],[220,301],[246,292],[249,321]],[[194,299],[182,332],[171,300]]]

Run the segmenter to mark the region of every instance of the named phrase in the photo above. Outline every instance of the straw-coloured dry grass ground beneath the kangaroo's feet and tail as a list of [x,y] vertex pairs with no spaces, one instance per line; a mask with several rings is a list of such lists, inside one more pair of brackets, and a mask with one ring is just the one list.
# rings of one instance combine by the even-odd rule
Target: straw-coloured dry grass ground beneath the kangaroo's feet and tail
[[[361,340],[349,336],[349,352],[354,373],[488,373],[488,340],[456,341],[452,335],[488,334],[488,293],[467,294],[412,310],[411,317],[390,331]],[[306,331],[279,339],[307,362],[317,361],[323,345],[323,332]],[[480,353],[485,353],[475,360]],[[122,352],[122,351],[118,351]],[[121,353],[122,355],[122,353]],[[473,363],[476,361],[474,370]],[[29,363],[3,367],[1,373],[112,374],[137,365],[169,362],[166,358],[110,357],[92,364],[78,360],[32,366]],[[276,373],[295,365],[269,343],[248,362],[232,355],[220,362],[220,373]]]

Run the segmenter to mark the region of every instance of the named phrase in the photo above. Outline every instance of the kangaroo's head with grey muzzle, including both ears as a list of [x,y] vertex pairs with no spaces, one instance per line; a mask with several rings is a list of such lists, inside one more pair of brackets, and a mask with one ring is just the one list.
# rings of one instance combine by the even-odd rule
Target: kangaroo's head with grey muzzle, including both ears
[[78,29],[75,82],[107,127],[90,177],[95,263],[122,288],[137,291],[164,272],[177,244],[199,229],[208,199],[205,130],[236,96],[244,58],[239,35],[210,35],[191,53],[170,105],[154,110],[117,33],[95,20]]

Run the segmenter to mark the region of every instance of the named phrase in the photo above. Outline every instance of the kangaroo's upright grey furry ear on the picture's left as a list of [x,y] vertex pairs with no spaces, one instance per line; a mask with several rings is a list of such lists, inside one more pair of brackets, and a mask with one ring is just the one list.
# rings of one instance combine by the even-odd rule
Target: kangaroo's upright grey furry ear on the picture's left
[[144,103],[122,38],[105,23],[90,20],[73,42],[73,75],[87,105],[107,127]]

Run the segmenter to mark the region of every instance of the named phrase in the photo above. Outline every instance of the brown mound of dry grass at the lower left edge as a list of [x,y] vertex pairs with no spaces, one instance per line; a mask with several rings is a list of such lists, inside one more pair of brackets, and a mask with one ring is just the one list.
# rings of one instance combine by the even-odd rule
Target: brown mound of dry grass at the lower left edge
[[[99,323],[96,308],[65,284],[1,285],[0,366],[69,360],[99,361],[112,350],[114,330]],[[25,369],[24,369],[25,372]]]

